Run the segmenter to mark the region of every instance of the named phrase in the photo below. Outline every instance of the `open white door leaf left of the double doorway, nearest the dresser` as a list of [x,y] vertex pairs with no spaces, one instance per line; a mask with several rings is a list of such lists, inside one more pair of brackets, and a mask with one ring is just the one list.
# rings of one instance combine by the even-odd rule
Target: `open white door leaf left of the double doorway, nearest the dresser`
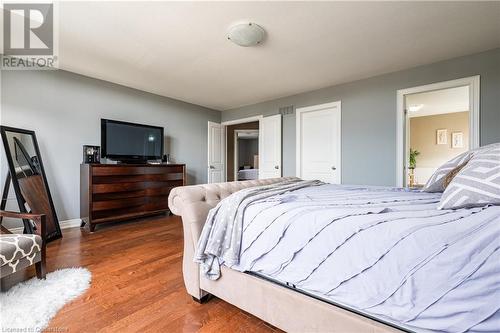
[[208,122],[208,183],[221,183],[224,177],[224,127]]

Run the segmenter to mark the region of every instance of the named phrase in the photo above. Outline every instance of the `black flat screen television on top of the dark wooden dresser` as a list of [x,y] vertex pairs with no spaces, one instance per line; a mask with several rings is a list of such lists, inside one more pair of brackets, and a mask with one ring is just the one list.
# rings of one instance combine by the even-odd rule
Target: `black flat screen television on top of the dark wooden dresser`
[[101,119],[101,156],[129,163],[163,155],[163,127]]

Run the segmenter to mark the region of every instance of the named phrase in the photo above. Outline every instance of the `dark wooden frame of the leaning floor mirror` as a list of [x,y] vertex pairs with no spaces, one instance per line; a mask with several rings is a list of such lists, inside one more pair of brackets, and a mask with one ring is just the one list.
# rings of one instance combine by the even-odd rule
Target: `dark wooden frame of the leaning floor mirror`
[[[9,146],[9,142],[8,142],[8,138],[7,138],[7,132],[27,134],[27,135],[30,135],[33,139],[33,146],[34,146],[37,158],[38,158],[38,162],[40,164],[40,173],[41,173],[41,176],[43,179],[43,184],[45,186],[45,190],[47,192],[49,206],[50,206],[50,210],[51,210],[51,212],[34,212],[34,213],[46,214],[46,215],[51,214],[52,215],[55,230],[52,232],[49,232],[47,230],[47,235],[45,235],[46,240],[49,242],[49,241],[52,241],[55,239],[59,239],[62,237],[61,227],[59,226],[59,219],[57,218],[56,210],[54,208],[54,202],[52,201],[52,195],[50,193],[49,183],[47,182],[47,177],[45,176],[45,169],[43,167],[42,156],[40,154],[40,149],[38,148],[38,141],[36,139],[35,131],[25,130],[22,128],[0,126],[0,133],[2,135],[3,146],[4,146],[5,154],[7,155],[7,163],[9,166],[9,172],[10,172],[10,176],[11,176],[10,178],[12,181],[12,186],[14,187],[14,192],[16,194],[16,199],[17,199],[17,203],[19,206],[19,210],[21,213],[30,213],[30,212],[26,211],[26,207],[25,207],[26,200],[24,199],[24,197],[22,195],[21,187],[19,186],[19,180],[16,177],[14,161],[12,160],[12,153],[10,151],[10,146]],[[4,189],[4,191],[5,190],[8,191],[8,188]],[[33,225],[31,224],[31,222],[29,220],[23,220],[23,221],[24,221],[25,232],[33,233]],[[48,227],[49,226],[47,226],[47,229],[48,229]]]

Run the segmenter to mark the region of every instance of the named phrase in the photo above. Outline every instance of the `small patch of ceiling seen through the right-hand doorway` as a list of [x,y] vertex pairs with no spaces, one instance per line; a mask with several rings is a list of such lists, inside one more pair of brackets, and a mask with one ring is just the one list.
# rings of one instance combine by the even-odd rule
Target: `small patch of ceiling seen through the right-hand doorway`
[[410,118],[469,111],[469,87],[442,89],[406,96],[406,106],[421,106]]

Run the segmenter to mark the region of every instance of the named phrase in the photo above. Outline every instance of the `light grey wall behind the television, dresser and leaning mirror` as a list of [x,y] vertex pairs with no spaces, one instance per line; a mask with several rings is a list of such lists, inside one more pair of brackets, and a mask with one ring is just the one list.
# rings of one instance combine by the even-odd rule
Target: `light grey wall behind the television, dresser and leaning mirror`
[[207,122],[219,111],[65,71],[2,71],[1,84],[0,122],[35,130],[60,220],[80,216],[82,145],[100,145],[100,118],[165,127],[165,151],[186,163],[188,182],[207,180]]

